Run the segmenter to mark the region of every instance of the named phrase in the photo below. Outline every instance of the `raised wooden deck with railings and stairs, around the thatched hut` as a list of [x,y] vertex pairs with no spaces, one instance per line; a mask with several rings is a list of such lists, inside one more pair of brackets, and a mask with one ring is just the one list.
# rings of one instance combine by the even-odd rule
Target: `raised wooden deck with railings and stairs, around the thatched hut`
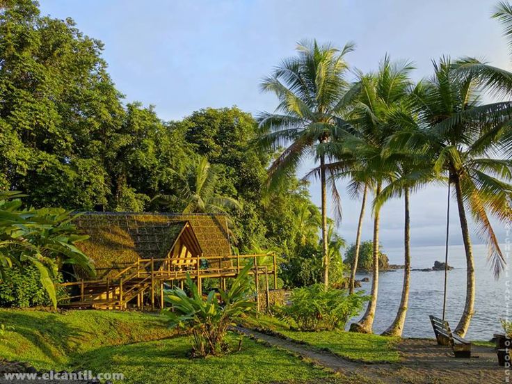
[[[60,307],[95,308],[124,310],[129,303],[138,308],[143,307],[144,298],[149,294],[152,309],[159,295],[159,307],[164,305],[164,284],[183,285],[189,275],[195,280],[202,292],[202,280],[218,278],[221,288],[225,289],[225,280],[235,278],[247,264],[253,265],[250,275],[255,278],[256,299],[259,300],[259,277],[264,276],[269,298],[269,276],[273,277],[277,287],[277,262],[275,255],[234,255],[209,257],[167,257],[163,259],[138,258],[133,264],[102,280],[81,280],[64,282],[61,287],[74,291],[70,296],[61,299]],[[259,307],[259,303],[258,303]]]

